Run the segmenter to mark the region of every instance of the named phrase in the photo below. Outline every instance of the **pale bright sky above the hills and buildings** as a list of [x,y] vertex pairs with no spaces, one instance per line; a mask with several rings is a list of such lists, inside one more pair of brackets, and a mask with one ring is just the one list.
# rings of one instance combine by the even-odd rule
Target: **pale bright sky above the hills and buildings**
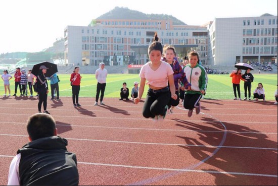
[[115,7],[172,15],[188,25],[215,18],[277,16],[277,0],[2,0],[0,7],[0,53],[41,51],[63,37],[66,26],[87,26]]

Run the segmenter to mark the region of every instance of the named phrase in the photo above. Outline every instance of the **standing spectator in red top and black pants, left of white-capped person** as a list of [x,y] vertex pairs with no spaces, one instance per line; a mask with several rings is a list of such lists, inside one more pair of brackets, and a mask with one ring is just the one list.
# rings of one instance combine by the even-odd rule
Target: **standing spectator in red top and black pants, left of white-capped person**
[[82,76],[80,76],[79,70],[80,68],[78,66],[74,67],[74,71],[70,76],[70,82],[72,86],[72,102],[74,107],[81,106],[79,104],[79,92]]

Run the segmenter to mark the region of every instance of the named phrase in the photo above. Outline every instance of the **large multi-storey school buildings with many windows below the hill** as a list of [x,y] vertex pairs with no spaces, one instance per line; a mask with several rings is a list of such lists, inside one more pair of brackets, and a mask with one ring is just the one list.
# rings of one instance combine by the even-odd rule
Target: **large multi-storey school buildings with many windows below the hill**
[[[239,61],[274,62],[277,58],[277,16],[216,18],[201,26],[174,25],[171,20],[94,20],[64,30],[67,64],[141,67],[157,32],[159,41],[176,48],[181,60],[192,49],[201,63],[233,65]],[[135,71],[134,71],[135,72]]]

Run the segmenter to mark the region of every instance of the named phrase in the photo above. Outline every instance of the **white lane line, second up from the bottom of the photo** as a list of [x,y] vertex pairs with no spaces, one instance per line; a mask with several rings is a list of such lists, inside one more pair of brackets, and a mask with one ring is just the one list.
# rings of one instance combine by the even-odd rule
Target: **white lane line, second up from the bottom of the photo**
[[[11,137],[28,137],[26,135],[9,135],[0,134],[0,136]],[[103,142],[103,143],[121,143],[121,144],[136,144],[136,145],[154,145],[154,146],[182,146],[182,147],[205,147],[205,148],[232,148],[232,149],[255,149],[255,150],[278,150],[277,148],[263,148],[263,147],[236,147],[236,146],[213,146],[213,145],[184,145],[184,144],[171,144],[171,143],[143,143],[143,142],[127,142],[127,141],[112,141],[112,140],[93,140],[93,139],[79,139],[79,138],[66,138],[73,141],[87,141],[87,142]]]

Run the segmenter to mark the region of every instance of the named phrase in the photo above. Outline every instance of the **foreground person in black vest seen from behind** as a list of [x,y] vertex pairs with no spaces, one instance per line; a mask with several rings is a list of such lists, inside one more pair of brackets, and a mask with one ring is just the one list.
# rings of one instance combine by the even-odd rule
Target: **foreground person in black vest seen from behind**
[[12,160],[8,185],[78,185],[76,155],[67,151],[67,140],[57,136],[53,117],[32,115],[27,132],[30,142]]

